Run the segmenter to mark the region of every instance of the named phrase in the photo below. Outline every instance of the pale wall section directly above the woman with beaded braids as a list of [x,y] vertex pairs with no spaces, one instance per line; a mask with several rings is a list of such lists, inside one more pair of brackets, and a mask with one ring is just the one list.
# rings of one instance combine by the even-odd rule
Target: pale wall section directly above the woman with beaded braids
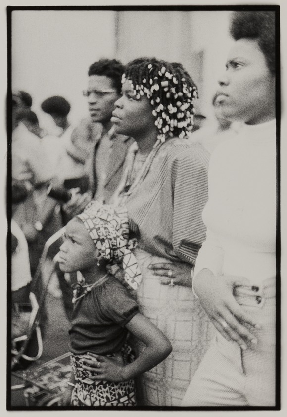
[[124,11],[118,12],[117,57],[124,63],[140,56],[181,62],[199,89],[196,109],[213,114],[210,100],[224,70],[228,11]]

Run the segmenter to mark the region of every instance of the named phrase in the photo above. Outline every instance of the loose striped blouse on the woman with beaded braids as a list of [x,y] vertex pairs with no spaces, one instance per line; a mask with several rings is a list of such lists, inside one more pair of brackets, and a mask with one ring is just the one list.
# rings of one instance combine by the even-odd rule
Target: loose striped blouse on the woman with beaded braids
[[205,240],[209,153],[189,139],[164,143],[126,201],[131,231],[145,251],[194,265]]

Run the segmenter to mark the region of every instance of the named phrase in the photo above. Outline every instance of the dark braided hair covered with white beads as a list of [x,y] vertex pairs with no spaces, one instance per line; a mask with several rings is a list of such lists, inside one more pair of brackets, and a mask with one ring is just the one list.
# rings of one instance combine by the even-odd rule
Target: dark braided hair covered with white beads
[[122,84],[126,80],[137,99],[147,96],[161,142],[168,137],[190,135],[197,87],[180,63],[138,58],[126,66]]

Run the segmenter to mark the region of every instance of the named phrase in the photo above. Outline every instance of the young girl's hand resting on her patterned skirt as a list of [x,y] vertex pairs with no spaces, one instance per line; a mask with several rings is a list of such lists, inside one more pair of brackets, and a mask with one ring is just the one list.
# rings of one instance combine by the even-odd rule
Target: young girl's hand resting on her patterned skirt
[[83,369],[92,373],[89,379],[93,381],[104,380],[112,382],[121,382],[125,380],[122,361],[108,356],[88,354],[91,359],[83,359]]

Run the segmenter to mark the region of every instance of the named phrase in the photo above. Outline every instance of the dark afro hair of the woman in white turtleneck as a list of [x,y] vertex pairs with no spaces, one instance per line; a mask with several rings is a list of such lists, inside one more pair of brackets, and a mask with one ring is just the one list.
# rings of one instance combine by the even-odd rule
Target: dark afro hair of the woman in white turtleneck
[[275,74],[275,12],[235,11],[232,13],[230,34],[235,41],[242,38],[256,40],[270,72]]

